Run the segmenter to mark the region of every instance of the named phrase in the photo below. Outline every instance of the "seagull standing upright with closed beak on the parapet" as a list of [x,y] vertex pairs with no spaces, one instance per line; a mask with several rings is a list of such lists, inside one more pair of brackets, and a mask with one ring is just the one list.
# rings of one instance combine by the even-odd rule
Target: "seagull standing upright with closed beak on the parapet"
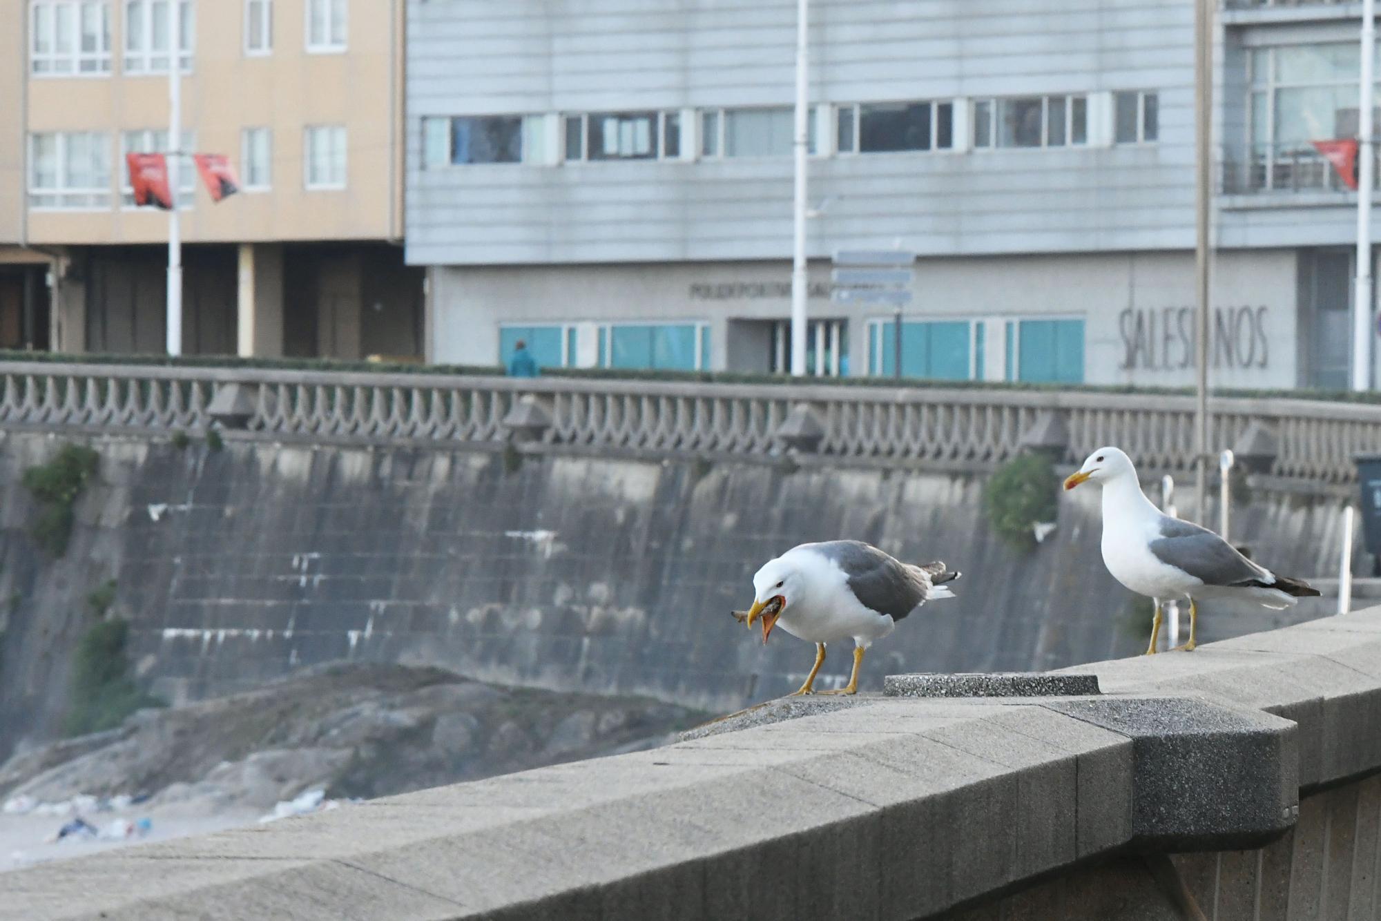
[[1103,487],[1103,565],[1123,585],[1156,602],[1148,656],[1156,652],[1160,606],[1167,599],[1189,599],[1189,642],[1175,649],[1190,652],[1197,645],[1200,598],[1240,598],[1280,610],[1319,594],[1302,579],[1258,566],[1207,527],[1161,514],[1141,492],[1131,458],[1117,447],[1090,454],[1065,489],[1085,481]]

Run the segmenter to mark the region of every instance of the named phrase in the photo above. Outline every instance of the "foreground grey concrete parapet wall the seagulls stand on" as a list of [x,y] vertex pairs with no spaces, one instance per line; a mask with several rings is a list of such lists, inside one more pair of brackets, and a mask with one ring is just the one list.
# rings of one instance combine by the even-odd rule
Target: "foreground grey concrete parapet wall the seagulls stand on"
[[39,866],[0,920],[1381,917],[1381,608],[1077,671]]

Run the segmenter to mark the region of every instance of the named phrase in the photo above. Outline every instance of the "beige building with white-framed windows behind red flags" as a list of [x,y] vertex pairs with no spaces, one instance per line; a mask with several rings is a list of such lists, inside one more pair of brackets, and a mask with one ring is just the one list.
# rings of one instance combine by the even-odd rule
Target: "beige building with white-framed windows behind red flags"
[[[168,149],[171,0],[6,0],[0,348],[162,352],[168,214],[127,152]],[[403,264],[403,0],[181,0],[185,353],[423,353]]]

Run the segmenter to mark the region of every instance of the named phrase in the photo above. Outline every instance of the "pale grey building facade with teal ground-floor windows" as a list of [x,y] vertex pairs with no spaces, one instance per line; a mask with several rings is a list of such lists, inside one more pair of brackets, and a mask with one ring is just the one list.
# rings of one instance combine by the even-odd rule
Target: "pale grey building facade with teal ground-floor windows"
[[[793,0],[409,0],[407,262],[429,356],[790,366]],[[820,374],[1193,378],[1192,0],[813,0]],[[1352,6],[1215,14],[1213,381],[1341,387]],[[1351,134],[1349,134],[1351,133]],[[918,254],[836,304],[840,250]]]

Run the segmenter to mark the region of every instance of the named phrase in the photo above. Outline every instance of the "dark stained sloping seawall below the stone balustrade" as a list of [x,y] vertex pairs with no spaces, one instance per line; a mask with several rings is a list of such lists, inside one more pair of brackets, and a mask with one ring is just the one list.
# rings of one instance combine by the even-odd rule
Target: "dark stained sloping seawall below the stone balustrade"
[[[1091,489],[1062,498],[1058,529],[1023,554],[987,529],[983,479],[964,472],[102,438],[70,548],[50,562],[19,479],[62,440],[0,432],[0,757],[55,730],[86,595],[109,579],[138,674],[170,700],[356,659],[729,710],[811,664],[808,645],[764,648],[729,619],[753,572],[840,536],[967,572],[957,599],[876,646],[865,688],[1130,655],[1149,632],[1099,562]],[[1258,559],[1313,577],[1335,572],[1341,504],[1259,489],[1235,526],[1259,534]],[[1326,609],[1206,606],[1203,635]],[[819,686],[842,684],[848,661],[830,656]]]

